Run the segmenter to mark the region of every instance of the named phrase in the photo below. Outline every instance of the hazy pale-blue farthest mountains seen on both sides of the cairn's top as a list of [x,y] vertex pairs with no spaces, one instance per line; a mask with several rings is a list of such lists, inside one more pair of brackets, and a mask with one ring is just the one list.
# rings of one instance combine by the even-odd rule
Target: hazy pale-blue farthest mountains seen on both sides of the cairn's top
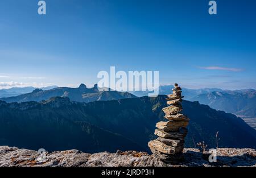
[[[172,85],[159,86],[159,94],[171,93]],[[131,92],[135,96],[147,96],[148,92]],[[256,118],[256,90],[222,90],[218,88],[187,89],[183,96],[188,101],[199,101],[213,109],[236,114],[239,117]]]

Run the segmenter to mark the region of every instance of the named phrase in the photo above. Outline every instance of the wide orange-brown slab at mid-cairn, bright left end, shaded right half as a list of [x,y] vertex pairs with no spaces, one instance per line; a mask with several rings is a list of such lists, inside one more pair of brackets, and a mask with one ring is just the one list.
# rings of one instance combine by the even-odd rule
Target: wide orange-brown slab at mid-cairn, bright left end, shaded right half
[[161,121],[156,123],[156,127],[163,131],[178,131],[181,127],[187,127],[188,123],[188,121]]

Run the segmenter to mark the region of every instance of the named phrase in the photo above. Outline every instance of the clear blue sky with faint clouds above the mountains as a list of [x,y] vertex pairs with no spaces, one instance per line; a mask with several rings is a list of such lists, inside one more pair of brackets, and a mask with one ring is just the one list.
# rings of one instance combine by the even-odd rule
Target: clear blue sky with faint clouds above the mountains
[[256,2],[0,1],[0,88],[92,86],[97,73],[159,71],[160,84],[256,89]]

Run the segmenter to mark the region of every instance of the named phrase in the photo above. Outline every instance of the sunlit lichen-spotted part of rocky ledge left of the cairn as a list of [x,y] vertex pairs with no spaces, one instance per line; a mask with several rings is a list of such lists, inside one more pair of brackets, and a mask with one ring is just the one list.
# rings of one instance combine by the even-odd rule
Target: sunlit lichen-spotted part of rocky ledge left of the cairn
[[146,152],[87,154],[78,150],[45,152],[0,146],[0,167],[156,167],[167,166]]

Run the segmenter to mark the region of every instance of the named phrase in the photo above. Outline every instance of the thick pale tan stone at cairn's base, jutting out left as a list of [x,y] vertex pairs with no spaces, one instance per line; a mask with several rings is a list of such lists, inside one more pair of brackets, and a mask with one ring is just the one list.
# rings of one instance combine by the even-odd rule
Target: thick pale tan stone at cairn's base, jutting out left
[[174,155],[183,151],[184,146],[172,147],[160,142],[159,140],[151,140],[148,142],[148,147],[154,152],[154,150],[162,152],[163,154]]

